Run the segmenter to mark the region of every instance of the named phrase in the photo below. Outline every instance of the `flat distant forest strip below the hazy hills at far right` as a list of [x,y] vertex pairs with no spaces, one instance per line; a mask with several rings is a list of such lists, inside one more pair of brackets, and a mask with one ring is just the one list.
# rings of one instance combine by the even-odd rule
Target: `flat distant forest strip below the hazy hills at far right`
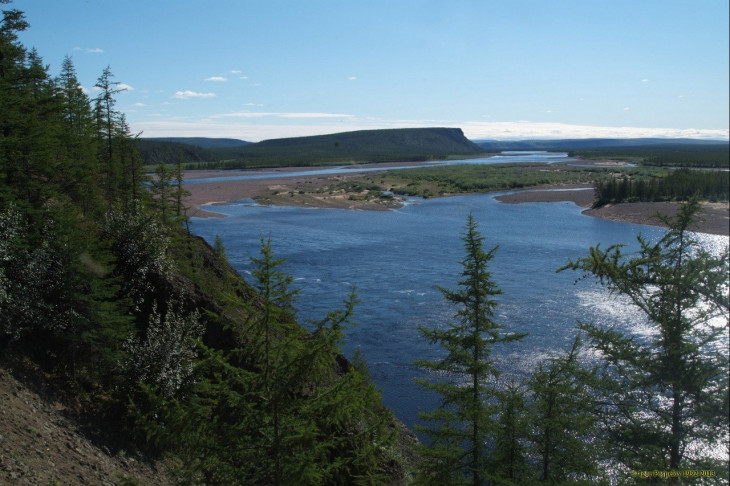
[[727,143],[585,148],[572,150],[570,154],[584,159],[618,159],[658,167],[730,168]]

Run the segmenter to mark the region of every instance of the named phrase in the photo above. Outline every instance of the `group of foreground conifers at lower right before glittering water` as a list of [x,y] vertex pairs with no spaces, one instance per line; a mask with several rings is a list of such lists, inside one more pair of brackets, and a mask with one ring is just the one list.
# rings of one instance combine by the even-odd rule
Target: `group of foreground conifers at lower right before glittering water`
[[636,254],[599,245],[559,269],[605,286],[649,332],[578,323],[562,353],[511,380],[492,352],[524,334],[496,320],[498,248],[484,249],[469,215],[459,286],[439,288],[453,322],[420,328],[443,353],[417,362],[440,398],[421,414],[417,484],[726,484],[730,254],[708,254],[687,231],[699,211],[684,204]]

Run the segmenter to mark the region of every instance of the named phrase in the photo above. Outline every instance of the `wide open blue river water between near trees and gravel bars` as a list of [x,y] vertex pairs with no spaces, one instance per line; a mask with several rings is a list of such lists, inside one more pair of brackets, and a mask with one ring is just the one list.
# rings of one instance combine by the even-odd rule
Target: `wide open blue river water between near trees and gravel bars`
[[[601,243],[627,244],[636,236],[650,240],[663,230],[618,223],[581,214],[573,203],[505,204],[495,194],[410,200],[392,211],[352,211],[258,206],[239,201],[216,206],[226,218],[193,218],[191,229],[212,244],[220,235],[231,264],[251,281],[251,256],[260,240],[271,237],[282,269],[301,288],[298,316],[323,318],[342,307],[352,286],[360,304],[358,326],[347,331],[347,356],[360,350],[383,401],[409,428],[419,410],[432,410],[436,397],[413,380],[424,372],[415,359],[436,359],[443,350],[426,342],[418,326],[444,326],[456,309],[436,286],[455,289],[464,256],[461,233],[472,213],[485,237],[485,249],[498,245],[490,264],[504,292],[495,320],[509,332],[529,335],[494,350],[501,380],[528,373],[537,362],[565,349],[578,321],[615,324],[635,333],[649,332],[639,312],[616,301],[598,284],[575,272],[556,273],[569,259],[586,256]],[[700,235],[710,248],[728,238]]]

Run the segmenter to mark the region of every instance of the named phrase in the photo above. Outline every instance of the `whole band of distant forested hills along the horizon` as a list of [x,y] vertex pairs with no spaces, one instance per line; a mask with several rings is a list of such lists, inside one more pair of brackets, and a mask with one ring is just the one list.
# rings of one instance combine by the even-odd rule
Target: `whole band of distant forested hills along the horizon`
[[[469,157],[504,150],[560,150],[581,157],[638,155],[654,164],[727,166],[728,142],[682,138],[589,138],[564,140],[470,141],[459,128],[400,128],[360,130],[311,137],[279,138],[251,143],[232,138],[161,137],[138,140],[146,165],[174,164],[180,158],[188,167],[246,168],[314,166],[355,162],[436,160]],[[651,160],[661,155],[660,161]],[[703,152],[698,156],[698,151]],[[664,152],[678,152],[666,154]],[[706,153],[705,153],[706,152]],[[708,155],[709,153],[709,155]]]

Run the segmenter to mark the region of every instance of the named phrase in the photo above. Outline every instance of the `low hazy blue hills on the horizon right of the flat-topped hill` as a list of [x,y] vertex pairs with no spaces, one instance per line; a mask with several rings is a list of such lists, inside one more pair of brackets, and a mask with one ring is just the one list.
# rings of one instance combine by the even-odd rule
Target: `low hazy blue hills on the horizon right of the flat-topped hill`
[[649,147],[672,145],[727,145],[727,140],[693,138],[585,138],[564,140],[475,140],[485,150],[579,150],[608,147]]

